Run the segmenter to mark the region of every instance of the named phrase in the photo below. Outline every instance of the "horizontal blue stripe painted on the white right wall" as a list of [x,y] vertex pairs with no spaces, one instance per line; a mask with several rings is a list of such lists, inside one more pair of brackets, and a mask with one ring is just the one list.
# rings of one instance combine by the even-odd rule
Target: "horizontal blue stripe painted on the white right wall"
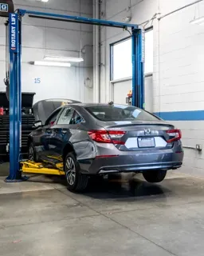
[[157,112],[159,118],[167,121],[199,121],[204,120],[204,110]]

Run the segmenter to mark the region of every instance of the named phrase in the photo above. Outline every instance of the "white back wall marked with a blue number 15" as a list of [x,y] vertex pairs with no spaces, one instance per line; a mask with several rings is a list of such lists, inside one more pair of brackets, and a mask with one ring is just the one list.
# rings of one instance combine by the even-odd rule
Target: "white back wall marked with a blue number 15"
[[[48,3],[15,0],[15,9],[37,10],[92,18],[92,0],[49,0]],[[0,90],[5,90],[5,26],[0,19]],[[84,46],[84,62],[71,68],[33,66],[29,62],[45,55],[78,57],[80,40]],[[36,84],[35,78],[41,78]],[[92,102],[92,89],[84,79],[92,79],[92,26],[23,18],[22,27],[22,91],[35,92],[34,102],[44,98],[73,98]]]

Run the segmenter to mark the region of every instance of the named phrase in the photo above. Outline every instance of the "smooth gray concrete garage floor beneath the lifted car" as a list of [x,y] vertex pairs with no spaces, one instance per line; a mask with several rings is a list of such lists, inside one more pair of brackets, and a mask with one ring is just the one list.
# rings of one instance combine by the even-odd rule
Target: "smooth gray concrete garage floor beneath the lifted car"
[[203,179],[169,173],[151,185],[116,176],[72,194],[61,178],[3,178],[0,255],[204,255]]

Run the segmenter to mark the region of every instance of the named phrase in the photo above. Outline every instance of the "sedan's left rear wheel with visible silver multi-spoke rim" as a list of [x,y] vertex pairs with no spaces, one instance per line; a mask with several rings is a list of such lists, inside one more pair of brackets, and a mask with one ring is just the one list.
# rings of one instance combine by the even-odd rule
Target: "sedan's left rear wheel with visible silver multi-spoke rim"
[[80,165],[73,152],[68,153],[64,162],[65,177],[70,191],[80,192],[88,186],[88,175],[80,173]]

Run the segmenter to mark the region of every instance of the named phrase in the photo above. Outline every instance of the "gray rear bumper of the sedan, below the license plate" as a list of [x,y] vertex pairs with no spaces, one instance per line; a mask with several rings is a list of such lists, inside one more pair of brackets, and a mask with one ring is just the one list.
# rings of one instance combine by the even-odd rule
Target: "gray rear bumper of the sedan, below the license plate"
[[[166,151],[166,150],[164,150]],[[108,174],[116,172],[143,172],[145,170],[171,170],[182,166],[183,152],[172,150],[151,154],[127,154],[116,157],[79,160],[84,174]]]

